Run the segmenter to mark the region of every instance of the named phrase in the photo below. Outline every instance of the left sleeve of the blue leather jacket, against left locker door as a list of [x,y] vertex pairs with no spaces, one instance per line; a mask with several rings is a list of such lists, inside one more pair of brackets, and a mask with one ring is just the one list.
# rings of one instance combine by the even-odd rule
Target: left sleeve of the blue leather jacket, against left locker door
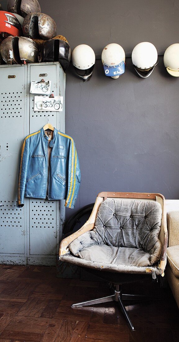
[[24,206],[24,193],[25,193],[25,186],[26,186],[28,163],[29,163],[29,139],[27,139],[26,137],[22,145],[21,153],[20,153],[17,208],[22,208]]

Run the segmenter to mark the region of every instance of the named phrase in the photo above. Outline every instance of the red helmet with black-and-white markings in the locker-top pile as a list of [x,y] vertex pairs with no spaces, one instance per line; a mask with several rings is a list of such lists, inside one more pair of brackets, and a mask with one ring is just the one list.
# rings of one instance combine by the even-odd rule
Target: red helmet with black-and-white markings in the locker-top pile
[[21,28],[22,26],[15,14],[0,11],[0,35],[3,38],[7,38],[8,36],[21,36]]

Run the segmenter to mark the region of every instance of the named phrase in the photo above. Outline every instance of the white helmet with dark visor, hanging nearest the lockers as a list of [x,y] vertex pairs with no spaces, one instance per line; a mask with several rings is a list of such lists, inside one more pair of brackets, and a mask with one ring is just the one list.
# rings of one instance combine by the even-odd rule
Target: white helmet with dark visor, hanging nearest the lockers
[[95,66],[93,49],[86,44],[76,46],[72,52],[72,64],[78,76],[89,79]]

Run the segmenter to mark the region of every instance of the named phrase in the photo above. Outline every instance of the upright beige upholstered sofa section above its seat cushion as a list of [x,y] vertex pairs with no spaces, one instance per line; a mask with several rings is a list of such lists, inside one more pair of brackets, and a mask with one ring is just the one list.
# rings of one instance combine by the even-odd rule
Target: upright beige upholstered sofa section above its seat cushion
[[168,247],[179,245],[179,211],[167,213]]

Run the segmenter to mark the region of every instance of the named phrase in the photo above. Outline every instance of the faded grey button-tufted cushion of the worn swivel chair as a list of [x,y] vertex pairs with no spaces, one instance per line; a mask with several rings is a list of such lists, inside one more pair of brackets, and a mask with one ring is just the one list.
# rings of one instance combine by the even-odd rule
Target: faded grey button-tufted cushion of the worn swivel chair
[[158,239],[162,218],[160,203],[107,199],[101,203],[95,228],[69,245],[82,259],[147,266],[160,260]]

